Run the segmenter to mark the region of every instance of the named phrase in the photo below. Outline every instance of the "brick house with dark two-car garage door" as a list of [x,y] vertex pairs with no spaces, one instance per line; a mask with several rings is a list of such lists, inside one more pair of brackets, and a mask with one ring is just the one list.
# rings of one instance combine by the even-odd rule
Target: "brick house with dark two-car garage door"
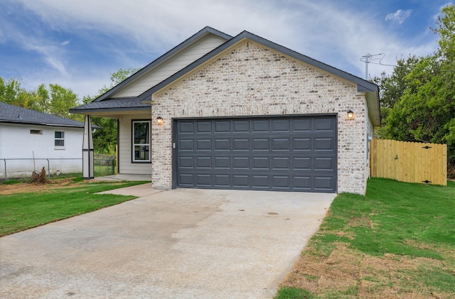
[[70,112],[117,119],[119,173],[156,188],[363,194],[380,125],[377,85],[210,27]]

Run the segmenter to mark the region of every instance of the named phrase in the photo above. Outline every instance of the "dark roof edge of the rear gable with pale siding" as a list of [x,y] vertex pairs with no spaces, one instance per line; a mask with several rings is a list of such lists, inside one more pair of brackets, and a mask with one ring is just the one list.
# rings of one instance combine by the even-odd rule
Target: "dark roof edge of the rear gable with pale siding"
[[172,48],[171,50],[168,50],[168,52],[164,53],[159,58],[156,58],[156,60],[150,62],[145,67],[142,67],[141,70],[138,70],[133,75],[131,75],[127,79],[125,79],[122,82],[120,82],[118,85],[112,87],[112,89],[109,89],[107,92],[105,92],[104,94],[100,95],[100,97],[97,97],[97,99],[93,100],[93,102],[100,102],[103,99],[107,99],[111,94],[113,94],[114,92],[117,92],[119,89],[124,87],[124,85],[127,85],[127,84],[129,84],[129,82],[134,81],[135,79],[137,79],[137,77],[140,77],[141,75],[143,75],[145,72],[149,71],[155,65],[158,65],[160,62],[163,62],[164,60],[169,58],[174,53],[177,53],[178,51],[182,50],[183,48],[185,48],[186,46],[190,45],[191,43],[193,43],[193,41],[197,40],[201,36],[205,36],[205,34],[207,34],[207,33],[212,33],[215,36],[219,36],[220,38],[224,38],[225,40],[230,40],[232,38],[232,36],[230,36],[230,35],[228,35],[226,33],[223,33],[221,31],[218,31],[215,28],[212,28],[212,27],[209,27],[209,26],[205,26],[205,28],[202,28],[200,31],[198,31],[196,34],[194,34],[190,38],[187,38],[182,43],[176,45],[176,47]]

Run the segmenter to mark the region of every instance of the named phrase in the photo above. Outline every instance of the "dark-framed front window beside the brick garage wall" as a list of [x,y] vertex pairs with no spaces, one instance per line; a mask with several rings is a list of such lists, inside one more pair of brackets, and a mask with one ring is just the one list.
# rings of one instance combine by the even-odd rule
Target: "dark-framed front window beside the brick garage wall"
[[133,162],[150,162],[150,121],[133,121]]

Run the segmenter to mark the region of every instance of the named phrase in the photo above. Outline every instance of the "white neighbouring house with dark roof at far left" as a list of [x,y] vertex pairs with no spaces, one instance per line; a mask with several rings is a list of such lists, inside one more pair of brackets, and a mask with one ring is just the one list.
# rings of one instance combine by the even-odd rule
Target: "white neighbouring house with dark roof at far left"
[[[84,124],[0,102],[0,178],[82,172]],[[33,159],[34,158],[34,159]]]

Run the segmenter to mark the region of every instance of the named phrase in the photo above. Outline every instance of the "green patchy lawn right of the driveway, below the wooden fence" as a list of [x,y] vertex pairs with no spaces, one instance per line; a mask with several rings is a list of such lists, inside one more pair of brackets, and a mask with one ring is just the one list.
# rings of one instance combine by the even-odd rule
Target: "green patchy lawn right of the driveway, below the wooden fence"
[[454,216],[455,182],[370,179],[333,200],[275,298],[455,298]]

